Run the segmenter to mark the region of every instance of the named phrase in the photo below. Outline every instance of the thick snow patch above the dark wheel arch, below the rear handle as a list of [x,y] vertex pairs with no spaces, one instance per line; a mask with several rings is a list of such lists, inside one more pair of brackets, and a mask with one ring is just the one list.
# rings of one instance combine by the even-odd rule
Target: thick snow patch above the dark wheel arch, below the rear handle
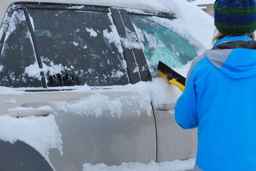
[[15,118],[0,116],[0,139],[14,143],[17,140],[35,148],[47,161],[49,150],[57,148],[61,155],[62,140],[53,115]]

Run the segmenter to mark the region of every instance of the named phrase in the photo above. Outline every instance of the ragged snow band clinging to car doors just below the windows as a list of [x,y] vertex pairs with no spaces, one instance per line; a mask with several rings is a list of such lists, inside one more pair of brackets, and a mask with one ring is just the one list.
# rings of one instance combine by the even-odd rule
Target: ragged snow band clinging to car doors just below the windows
[[[125,107],[130,112],[137,113],[138,116],[140,116],[141,111],[145,111],[148,116],[151,116],[151,101],[154,107],[159,104],[175,104],[182,93],[174,85],[167,84],[164,78],[154,78],[151,82],[139,82],[134,85],[109,87],[111,89],[104,88],[97,87],[97,90],[92,91],[86,85],[80,86],[72,92],[95,94],[78,101],[51,101],[50,103],[63,113],[75,113],[77,115],[101,117],[104,111],[109,111],[112,117],[120,118],[123,107]],[[106,93],[110,93],[111,96]]]

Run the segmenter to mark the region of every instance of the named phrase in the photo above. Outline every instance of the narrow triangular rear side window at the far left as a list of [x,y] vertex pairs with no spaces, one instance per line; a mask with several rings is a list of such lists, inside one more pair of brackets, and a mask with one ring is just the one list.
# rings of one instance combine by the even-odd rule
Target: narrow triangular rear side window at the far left
[[12,14],[0,53],[0,86],[41,87],[41,81],[25,73],[30,64],[38,66],[26,17],[19,9]]

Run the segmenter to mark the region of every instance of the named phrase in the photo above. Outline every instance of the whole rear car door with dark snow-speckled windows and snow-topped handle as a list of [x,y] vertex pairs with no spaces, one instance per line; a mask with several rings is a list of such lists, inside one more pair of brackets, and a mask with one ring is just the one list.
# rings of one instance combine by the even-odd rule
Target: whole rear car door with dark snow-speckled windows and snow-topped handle
[[0,149],[9,144],[9,155],[0,159],[12,162],[0,162],[0,170],[33,170],[24,164],[32,150],[12,160],[26,144],[56,171],[156,161],[150,97],[127,86],[141,77],[121,44],[115,10],[40,3],[8,10],[0,37]]

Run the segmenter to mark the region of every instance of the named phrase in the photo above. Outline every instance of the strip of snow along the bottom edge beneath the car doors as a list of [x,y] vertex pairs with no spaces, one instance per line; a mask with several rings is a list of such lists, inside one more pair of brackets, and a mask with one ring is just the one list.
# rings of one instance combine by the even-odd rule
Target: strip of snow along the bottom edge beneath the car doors
[[195,159],[185,161],[175,160],[172,162],[149,162],[142,164],[139,162],[122,163],[120,166],[108,167],[105,164],[91,165],[84,164],[83,171],[189,171],[194,168]]

